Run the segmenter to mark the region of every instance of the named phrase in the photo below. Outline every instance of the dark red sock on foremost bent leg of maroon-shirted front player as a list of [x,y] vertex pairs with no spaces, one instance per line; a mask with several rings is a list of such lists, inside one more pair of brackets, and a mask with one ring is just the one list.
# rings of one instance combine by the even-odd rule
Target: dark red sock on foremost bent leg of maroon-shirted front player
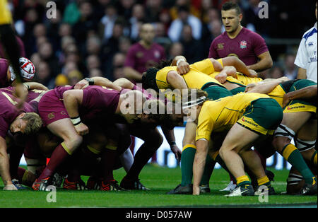
[[68,157],[69,153],[67,153],[63,146],[59,144],[59,146],[57,146],[57,148],[55,148],[53,151],[47,167],[43,170],[40,177],[37,178],[37,181],[51,177],[57,167],[61,165],[61,163],[64,163],[64,160],[66,160]]

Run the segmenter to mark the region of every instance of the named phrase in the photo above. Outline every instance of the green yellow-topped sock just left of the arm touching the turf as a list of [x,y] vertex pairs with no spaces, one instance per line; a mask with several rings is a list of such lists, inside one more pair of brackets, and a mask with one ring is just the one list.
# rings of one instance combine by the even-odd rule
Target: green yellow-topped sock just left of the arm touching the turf
[[184,146],[181,155],[181,185],[191,185],[192,184],[192,168],[194,156],[196,155],[196,146],[192,144],[187,144]]

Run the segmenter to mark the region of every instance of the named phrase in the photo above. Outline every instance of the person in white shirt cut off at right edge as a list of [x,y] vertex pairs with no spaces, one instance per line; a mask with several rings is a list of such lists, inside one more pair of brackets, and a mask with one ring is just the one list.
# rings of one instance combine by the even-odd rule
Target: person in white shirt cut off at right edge
[[[317,2],[316,2],[317,20]],[[317,83],[317,22],[302,36],[295,64],[299,66],[297,78],[307,78]]]

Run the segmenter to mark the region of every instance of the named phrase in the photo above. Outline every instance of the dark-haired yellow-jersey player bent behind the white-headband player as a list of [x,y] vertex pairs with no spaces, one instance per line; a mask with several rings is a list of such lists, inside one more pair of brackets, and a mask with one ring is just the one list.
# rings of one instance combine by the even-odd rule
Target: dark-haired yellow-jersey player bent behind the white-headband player
[[[202,71],[212,73],[215,70],[220,70],[222,67],[215,59],[204,59],[203,61],[196,62],[189,65],[189,71],[182,76],[178,72],[183,72],[183,65],[186,59],[178,56],[173,59],[172,63],[163,62],[157,68],[151,68],[143,74],[143,88],[152,88],[157,92],[165,89],[178,89],[183,90],[187,88],[198,88],[205,90],[208,93],[208,98],[216,100],[232,95],[222,84],[215,78],[204,74]],[[177,66],[175,66],[177,65]],[[175,91],[174,91],[175,92]],[[177,92],[178,93],[178,92]],[[179,92],[180,94],[182,92]],[[181,169],[182,169],[182,182],[169,194],[186,194],[192,193],[192,163],[195,146],[195,132],[196,124],[194,122],[187,122],[184,139],[182,141],[182,156],[181,156]],[[211,177],[212,170],[215,162],[208,156],[206,171],[204,173],[201,191],[210,192],[208,182]]]

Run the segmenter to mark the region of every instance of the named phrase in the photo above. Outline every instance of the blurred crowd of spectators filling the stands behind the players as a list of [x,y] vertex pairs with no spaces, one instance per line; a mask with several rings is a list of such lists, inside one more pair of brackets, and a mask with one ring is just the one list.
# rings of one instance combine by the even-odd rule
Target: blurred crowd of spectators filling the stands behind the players
[[[126,52],[139,41],[143,23],[154,25],[154,41],[165,48],[167,59],[182,54],[190,64],[208,57],[212,40],[224,31],[220,7],[225,0],[57,0],[57,17],[50,19],[45,0],[8,2],[21,55],[35,64],[35,81],[49,88],[85,77],[124,77]],[[273,58],[273,67],[261,76],[295,78],[295,55],[302,35],[315,23],[315,1],[266,1],[265,19],[258,16],[259,0],[235,2],[243,11],[242,25],[264,37]],[[170,27],[180,11],[196,25],[184,24],[176,33]]]

